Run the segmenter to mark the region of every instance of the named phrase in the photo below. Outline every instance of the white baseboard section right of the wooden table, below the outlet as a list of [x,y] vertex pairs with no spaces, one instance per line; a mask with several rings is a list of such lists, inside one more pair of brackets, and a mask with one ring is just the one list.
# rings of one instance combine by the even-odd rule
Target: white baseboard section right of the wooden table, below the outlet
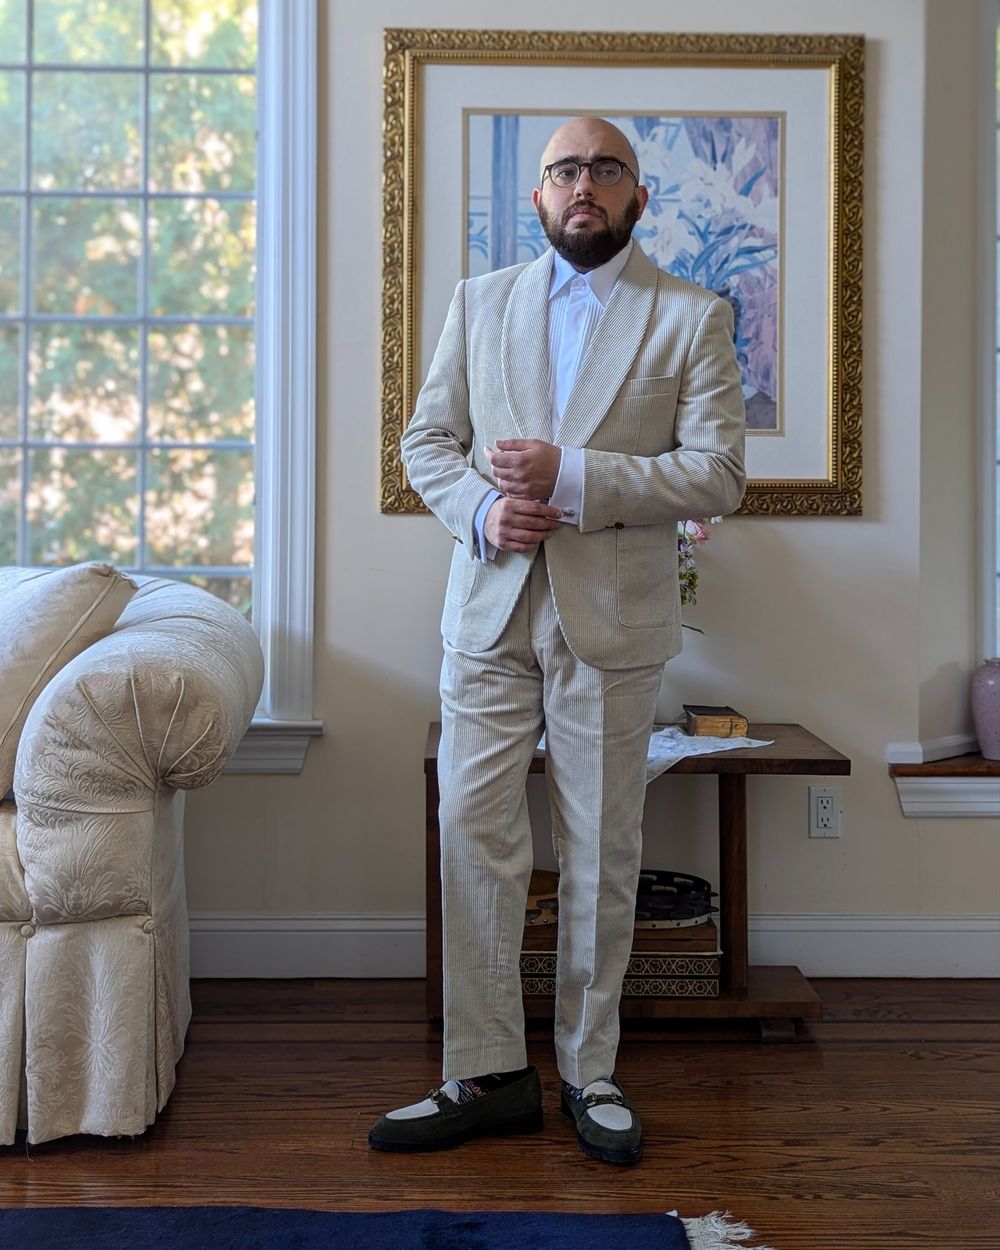
[[1000,916],[751,916],[750,962],[806,976],[1000,976]]

